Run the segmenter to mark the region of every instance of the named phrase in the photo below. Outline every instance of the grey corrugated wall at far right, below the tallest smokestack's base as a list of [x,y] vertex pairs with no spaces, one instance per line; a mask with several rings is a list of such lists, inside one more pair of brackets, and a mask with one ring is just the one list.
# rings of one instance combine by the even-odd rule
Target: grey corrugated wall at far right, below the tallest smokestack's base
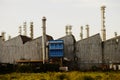
[[103,42],[105,63],[120,63],[120,36]]

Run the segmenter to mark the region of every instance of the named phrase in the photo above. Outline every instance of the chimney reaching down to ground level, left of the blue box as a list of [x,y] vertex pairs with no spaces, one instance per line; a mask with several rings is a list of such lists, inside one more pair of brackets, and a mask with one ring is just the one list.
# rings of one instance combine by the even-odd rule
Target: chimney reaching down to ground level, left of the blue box
[[43,64],[45,63],[46,56],[46,17],[42,18],[42,52],[43,52]]

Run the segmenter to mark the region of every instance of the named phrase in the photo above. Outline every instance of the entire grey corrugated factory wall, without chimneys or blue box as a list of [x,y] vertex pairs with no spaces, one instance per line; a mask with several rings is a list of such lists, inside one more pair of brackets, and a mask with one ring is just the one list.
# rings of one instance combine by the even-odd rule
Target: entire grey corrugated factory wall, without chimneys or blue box
[[[20,59],[42,60],[42,37],[33,40],[28,40],[29,38],[24,40],[24,38],[17,36],[3,42],[0,37],[0,62],[15,63]],[[60,39],[64,40],[64,57],[74,63],[76,56],[80,69],[90,69],[94,65],[98,66],[102,61],[120,63],[120,36],[104,42],[102,42],[100,34],[77,42],[73,35],[67,35]],[[53,40],[53,38],[47,36],[46,41],[48,40]]]

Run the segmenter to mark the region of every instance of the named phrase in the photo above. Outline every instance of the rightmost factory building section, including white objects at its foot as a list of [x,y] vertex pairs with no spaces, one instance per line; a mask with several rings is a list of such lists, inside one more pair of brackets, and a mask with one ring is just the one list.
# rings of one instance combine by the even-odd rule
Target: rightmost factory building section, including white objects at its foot
[[103,41],[103,63],[110,69],[120,70],[120,36]]

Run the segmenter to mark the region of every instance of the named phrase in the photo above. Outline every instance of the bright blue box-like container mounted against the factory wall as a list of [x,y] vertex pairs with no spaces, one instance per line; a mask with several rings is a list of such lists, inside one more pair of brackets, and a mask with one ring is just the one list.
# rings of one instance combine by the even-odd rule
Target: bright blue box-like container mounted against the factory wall
[[64,41],[51,40],[49,41],[49,57],[63,57],[64,55]]

